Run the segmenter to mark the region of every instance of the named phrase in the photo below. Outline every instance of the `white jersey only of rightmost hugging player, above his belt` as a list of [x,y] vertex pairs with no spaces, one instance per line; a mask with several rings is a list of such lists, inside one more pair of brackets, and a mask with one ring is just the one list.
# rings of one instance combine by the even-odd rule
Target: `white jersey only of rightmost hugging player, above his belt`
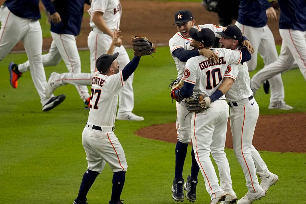
[[224,77],[235,78],[235,82],[233,83],[230,90],[226,92],[225,98],[227,101],[241,101],[244,98],[250,97],[253,92],[250,87],[250,76],[248,73],[248,65],[247,63],[243,63],[243,65],[231,64],[227,66],[226,74]]

